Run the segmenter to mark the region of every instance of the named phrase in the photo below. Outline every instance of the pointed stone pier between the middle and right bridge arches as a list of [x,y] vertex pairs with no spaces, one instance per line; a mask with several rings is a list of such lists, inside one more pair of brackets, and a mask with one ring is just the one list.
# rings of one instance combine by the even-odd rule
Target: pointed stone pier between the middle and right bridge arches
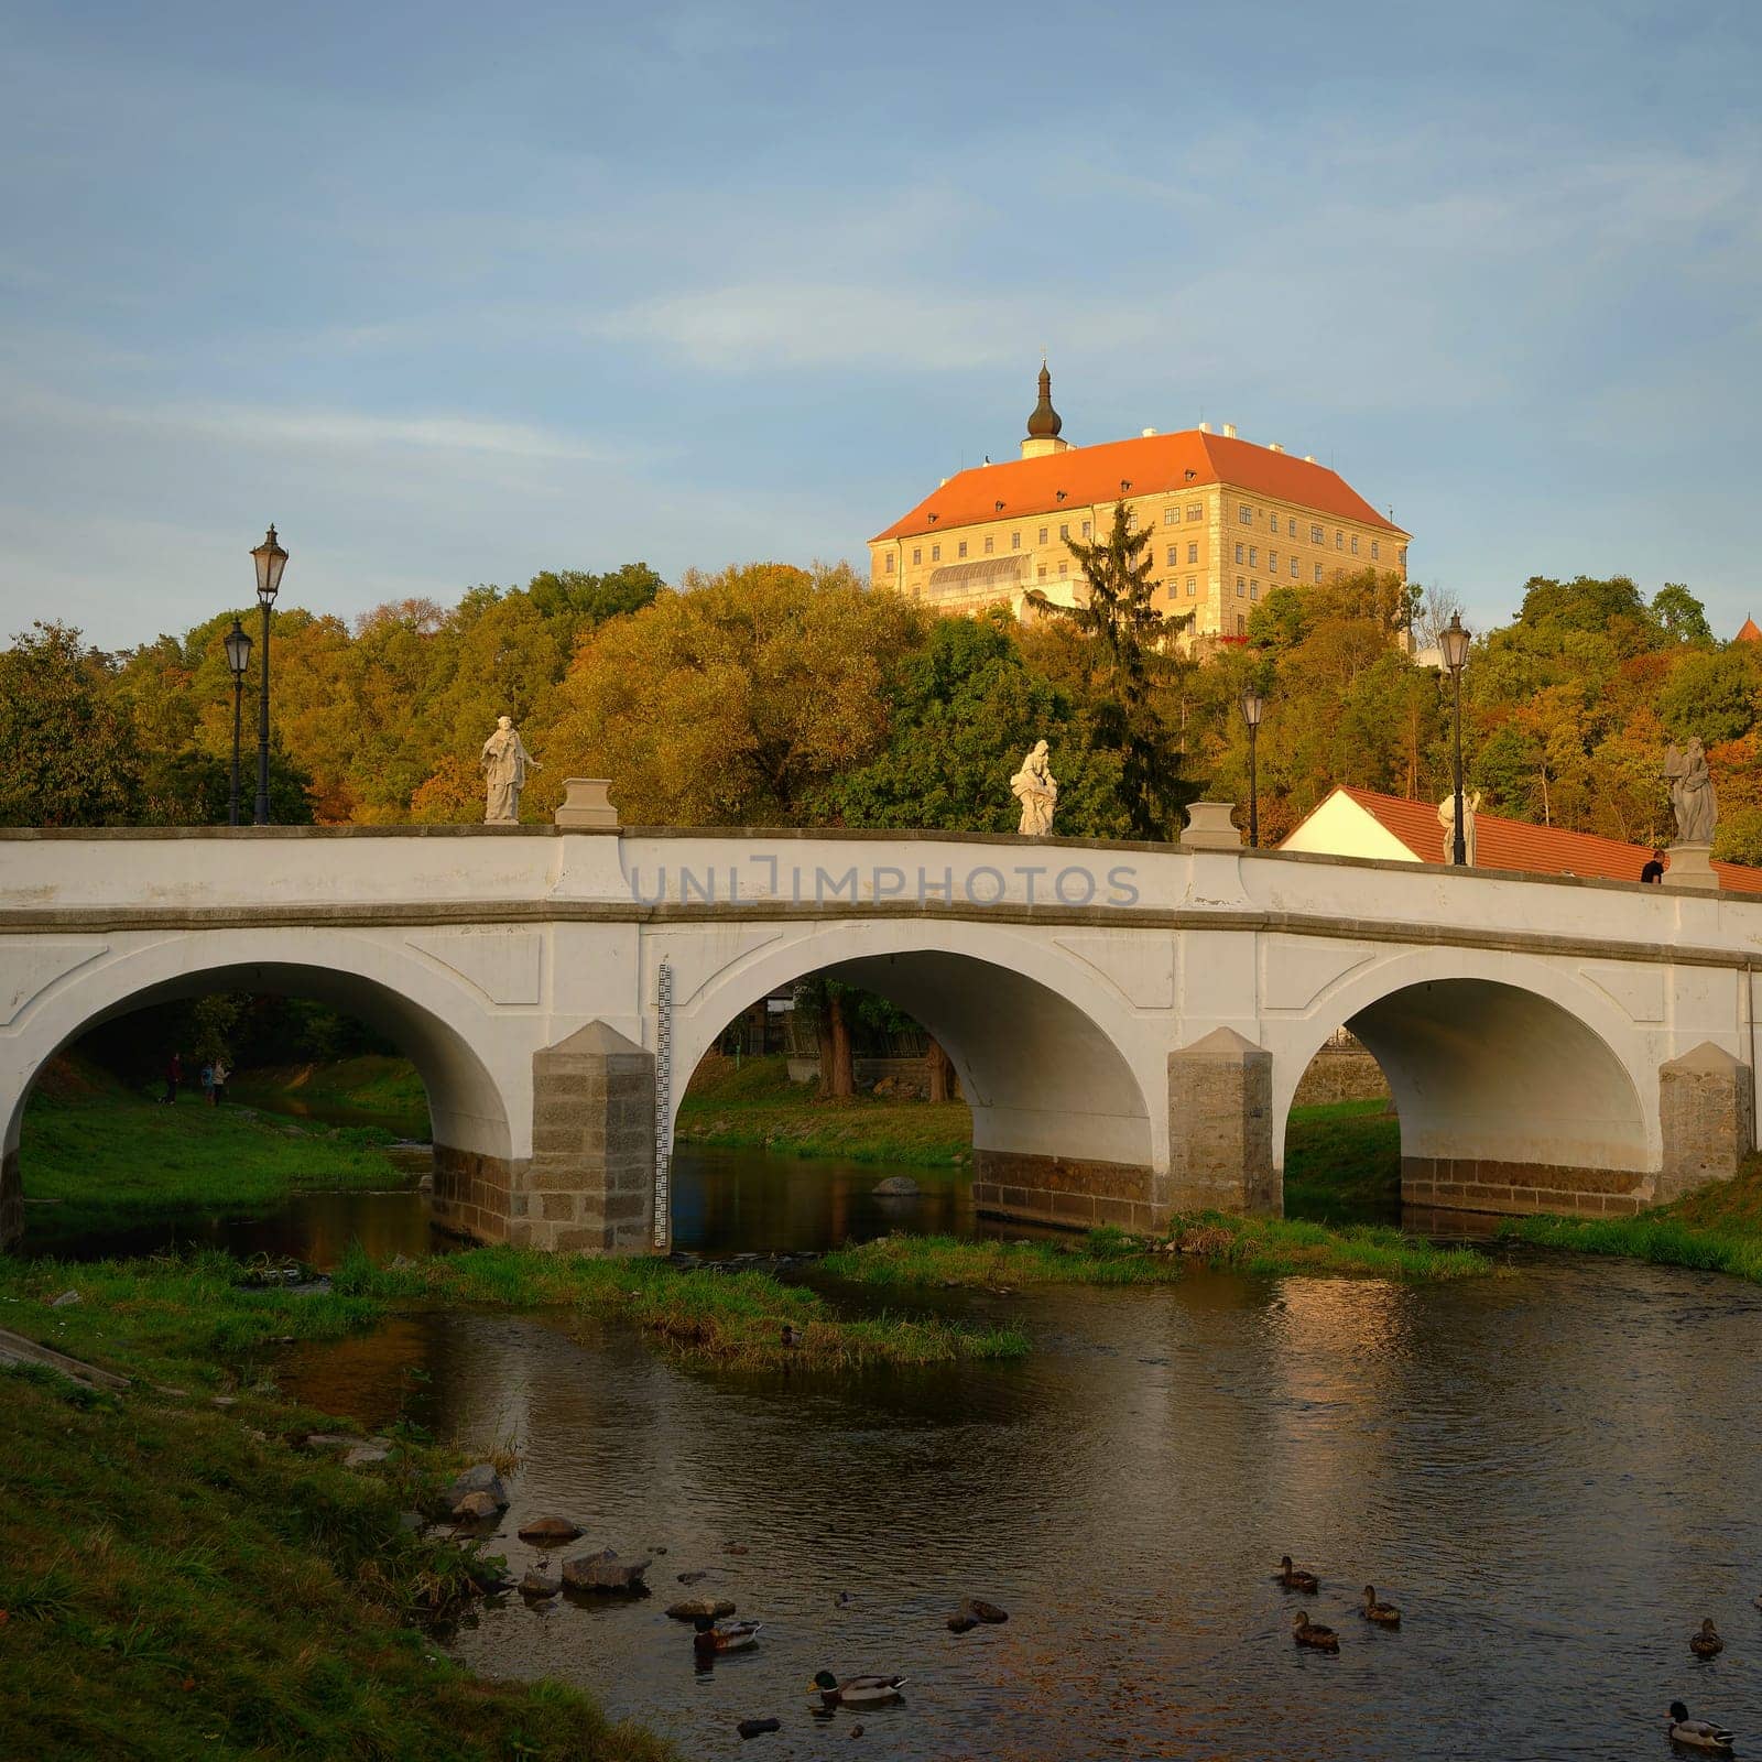
[[1168,1054],[1168,1210],[1283,1210],[1272,1054],[1233,1027]]

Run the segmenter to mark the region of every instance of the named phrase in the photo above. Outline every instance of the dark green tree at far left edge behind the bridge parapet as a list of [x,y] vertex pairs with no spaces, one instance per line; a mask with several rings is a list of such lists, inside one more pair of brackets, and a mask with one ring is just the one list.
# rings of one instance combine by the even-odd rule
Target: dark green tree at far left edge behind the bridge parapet
[[134,724],[115,668],[67,624],[37,622],[0,652],[0,825],[120,826],[141,805]]

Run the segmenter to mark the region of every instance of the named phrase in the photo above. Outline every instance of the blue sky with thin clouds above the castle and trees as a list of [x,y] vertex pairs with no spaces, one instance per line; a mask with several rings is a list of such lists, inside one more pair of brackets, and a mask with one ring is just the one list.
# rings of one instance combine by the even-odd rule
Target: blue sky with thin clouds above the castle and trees
[[1762,617],[1762,7],[0,0],[0,636],[865,560],[1200,416]]

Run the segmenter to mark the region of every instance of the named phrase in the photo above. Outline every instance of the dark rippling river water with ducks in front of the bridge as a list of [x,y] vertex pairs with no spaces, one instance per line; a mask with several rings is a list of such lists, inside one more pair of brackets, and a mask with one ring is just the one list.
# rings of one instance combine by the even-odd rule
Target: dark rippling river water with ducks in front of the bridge
[[[1647,1757],[1674,1697],[1762,1725],[1751,1286],[1533,1260],[929,1306],[1015,1320],[1034,1353],[756,1376],[573,1316],[444,1314],[298,1350],[282,1381],[382,1424],[419,1366],[419,1418],[516,1438],[495,1542],[516,1573],[536,1551],[515,1529],[546,1512],[581,1549],[664,1547],[652,1598],[516,1600],[456,1649],[592,1688],[692,1757],[763,1714],[784,1721],[768,1755],[856,1753],[860,1721],[888,1758]],[[1283,1552],[1323,1575],[1306,1607],[1337,1658],[1292,1646]],[[766,1623],[707,1676],[663,1614],[691,1570]],[[1399,1633],[1353,1618],[1366,1581],[1406,1609]],[[948,1633],[969,1595],[1010,1623]],[[1707,1614],[1727,1651],[1697,1663]],[[818,1669],[911,1681],[821,1725]]]

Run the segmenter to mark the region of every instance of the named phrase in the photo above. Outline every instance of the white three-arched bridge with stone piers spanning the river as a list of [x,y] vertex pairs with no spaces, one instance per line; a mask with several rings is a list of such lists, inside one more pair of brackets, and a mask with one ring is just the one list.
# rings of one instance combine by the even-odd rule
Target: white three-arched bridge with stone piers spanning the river
[[1348,1025],[1403,1191],[1632,1212],[1751,1149],[1762,902],[1246,849],[640,828],[0,832],[0,1240],[25,1099],[95,1024],[292,992],[428,1089],[435,1214],[486,1240],[670,1240],[678,1098],[812,973],[937,1036],[981,1209],[1156,1228],[1277,1210],[1284,1122]]

